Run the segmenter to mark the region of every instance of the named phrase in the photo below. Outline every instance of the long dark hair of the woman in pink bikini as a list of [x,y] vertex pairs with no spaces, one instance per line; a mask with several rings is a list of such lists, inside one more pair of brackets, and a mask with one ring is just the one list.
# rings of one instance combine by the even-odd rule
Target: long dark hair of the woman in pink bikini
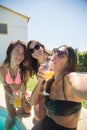
[[4,64],[8,65],[10,67],[11,63],[11,53],[15,49],[17,45],[21,45],[24,49],[24,60],[20,63],[19,68],[20,68],[20,73],[21,73],[21,78],[25,77],[26,75],[26,43],[23,40],[17,40],[17,41],[11,41],[9,44],[7,51],[6,51],[6,58],[4,60]]

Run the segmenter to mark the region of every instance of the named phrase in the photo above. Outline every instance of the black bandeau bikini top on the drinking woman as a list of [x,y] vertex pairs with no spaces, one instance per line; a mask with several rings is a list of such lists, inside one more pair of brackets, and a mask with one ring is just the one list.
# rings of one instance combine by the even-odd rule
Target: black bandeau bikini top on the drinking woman
[[81,102],[49,99],[46,107],[48,111],[55,115],[66,116],[78,112],[81,109]]

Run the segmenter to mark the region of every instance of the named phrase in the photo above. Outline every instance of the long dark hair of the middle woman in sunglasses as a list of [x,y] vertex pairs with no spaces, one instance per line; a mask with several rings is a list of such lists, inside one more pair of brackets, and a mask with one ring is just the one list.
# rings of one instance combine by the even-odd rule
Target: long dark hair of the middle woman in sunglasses
[[29,46],[32,43],[38,43],[43,48],[45,54],[47,54],[47,55],[50,55],[50,54],[46,51],[45,46],[42,43],[40,43],[39,41],[30,40],[28,42],[28,44],[27,44],[27,59],[28,59],[28,61],[30,63],[30,67],[31,67],[31,69],[33,71],[32,73],[37,74],[40,64],[38,63],[38,60],[33,58],[32,55],[29,53]]

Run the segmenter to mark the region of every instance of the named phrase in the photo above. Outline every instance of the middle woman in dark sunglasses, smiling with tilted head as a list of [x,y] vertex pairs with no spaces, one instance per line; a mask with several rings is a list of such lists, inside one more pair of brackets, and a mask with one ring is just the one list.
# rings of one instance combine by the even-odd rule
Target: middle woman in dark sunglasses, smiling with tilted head
[[[41,44],[39,41],[31,40],[27,44],[27,56],[31,68],[33,70],[33,74],[37,75],[40,64],[49,61],[50,54],[46,51],[44,45]],[[46,109],[43,106],[43,102],[44,98],[43,96],[41,96],[40,103],[34,106],[34,123],[37,123],[38,121],[42,120],[45,116]]]

